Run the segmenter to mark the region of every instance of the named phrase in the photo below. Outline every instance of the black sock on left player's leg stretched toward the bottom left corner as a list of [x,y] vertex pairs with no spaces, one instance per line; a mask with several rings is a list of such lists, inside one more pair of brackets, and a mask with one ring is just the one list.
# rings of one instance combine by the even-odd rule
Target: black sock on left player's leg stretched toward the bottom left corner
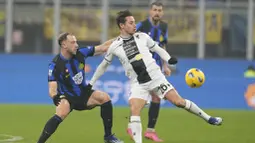
[[58,115],[54,115],[52,118],[50,118],[44,126],[43,132],[37,143],[45,143],[46,140],[56,131],[61,122],[62,119]]

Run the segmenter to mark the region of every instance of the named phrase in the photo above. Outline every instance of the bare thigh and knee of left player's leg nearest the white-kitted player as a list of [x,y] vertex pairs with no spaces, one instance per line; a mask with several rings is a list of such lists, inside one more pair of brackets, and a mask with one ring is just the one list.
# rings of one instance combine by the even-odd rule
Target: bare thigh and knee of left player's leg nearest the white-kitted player
[[110,101],[110,96],[100,90],[95,90],[88,99],[87,106],[93,108]]

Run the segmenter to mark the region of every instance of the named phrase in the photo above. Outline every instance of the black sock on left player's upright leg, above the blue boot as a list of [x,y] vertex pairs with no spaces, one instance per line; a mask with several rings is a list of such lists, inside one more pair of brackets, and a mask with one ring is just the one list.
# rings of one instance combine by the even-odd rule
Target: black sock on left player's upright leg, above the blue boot
[[108,101],[101,105],[101,117],[104,123],[105,137],[112,134],[112,102]]

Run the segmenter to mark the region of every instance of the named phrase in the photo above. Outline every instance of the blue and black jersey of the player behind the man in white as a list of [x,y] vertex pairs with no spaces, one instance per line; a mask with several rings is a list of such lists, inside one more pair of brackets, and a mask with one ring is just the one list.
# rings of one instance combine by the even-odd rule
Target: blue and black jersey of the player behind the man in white
[[[137,31],[147,33],[159,46],[166,46],[168,40],[168,28],[167,23],[160,21],[157,26],[154,26],[150,19],[146,19],[137,23]],[[157,64],[162,68],[162,61],[157,53],[152,53],[153,58]]]

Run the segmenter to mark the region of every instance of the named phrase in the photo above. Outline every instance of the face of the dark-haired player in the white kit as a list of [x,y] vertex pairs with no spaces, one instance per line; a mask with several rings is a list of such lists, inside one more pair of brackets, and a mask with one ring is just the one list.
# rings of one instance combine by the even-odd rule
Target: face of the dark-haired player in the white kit
[[136,31],[135,18],[133,16],[126,17],[126,22],[121,27],[126,33],[130,35],[134,34]]

